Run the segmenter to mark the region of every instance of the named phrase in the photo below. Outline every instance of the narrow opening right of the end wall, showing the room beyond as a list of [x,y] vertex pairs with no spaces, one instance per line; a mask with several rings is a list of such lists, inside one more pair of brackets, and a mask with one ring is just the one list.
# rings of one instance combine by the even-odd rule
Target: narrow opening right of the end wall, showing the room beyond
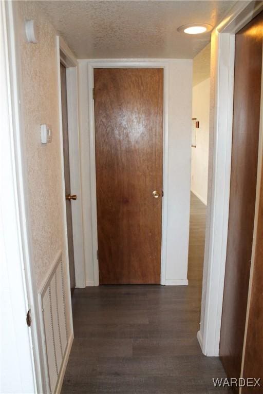
[[[189,286],[196,287],[200,321],[208,195],[211,44],[193,60]],[[199,329],[199,328],[198,328]]]

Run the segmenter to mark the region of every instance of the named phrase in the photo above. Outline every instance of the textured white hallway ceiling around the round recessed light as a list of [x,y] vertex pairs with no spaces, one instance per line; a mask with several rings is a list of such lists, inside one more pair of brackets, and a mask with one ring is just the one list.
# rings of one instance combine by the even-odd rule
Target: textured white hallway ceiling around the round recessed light
[[193,58],[210,33],[190,36],[177,28],[218,24],[236,1],[40,1],[78,58]]

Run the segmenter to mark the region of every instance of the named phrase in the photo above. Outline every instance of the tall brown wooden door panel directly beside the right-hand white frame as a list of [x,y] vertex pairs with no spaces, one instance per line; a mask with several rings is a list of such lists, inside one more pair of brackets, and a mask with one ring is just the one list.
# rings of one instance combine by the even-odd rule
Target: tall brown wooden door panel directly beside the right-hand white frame
[[[252,253],[262,66],[262,13],[236,34],[234,118],[220,357],[240,377]],[[253,375],[254,376],[254,375]]]

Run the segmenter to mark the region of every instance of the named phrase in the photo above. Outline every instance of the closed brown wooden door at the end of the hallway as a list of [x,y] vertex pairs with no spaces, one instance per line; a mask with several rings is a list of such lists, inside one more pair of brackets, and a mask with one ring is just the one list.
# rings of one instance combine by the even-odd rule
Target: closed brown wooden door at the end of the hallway
[[100,284],[160,283],[163,69],[98,68],[94,87]]

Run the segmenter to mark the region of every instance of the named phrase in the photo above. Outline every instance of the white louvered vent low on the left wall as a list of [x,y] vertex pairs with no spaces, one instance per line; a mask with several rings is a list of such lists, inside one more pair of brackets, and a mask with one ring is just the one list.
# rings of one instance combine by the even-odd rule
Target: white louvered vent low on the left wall
[[50,392],[54,393],[68,344],[61,253],[39,294],[39,300],[43,319],[42,337],[47,354],[48,385]]

